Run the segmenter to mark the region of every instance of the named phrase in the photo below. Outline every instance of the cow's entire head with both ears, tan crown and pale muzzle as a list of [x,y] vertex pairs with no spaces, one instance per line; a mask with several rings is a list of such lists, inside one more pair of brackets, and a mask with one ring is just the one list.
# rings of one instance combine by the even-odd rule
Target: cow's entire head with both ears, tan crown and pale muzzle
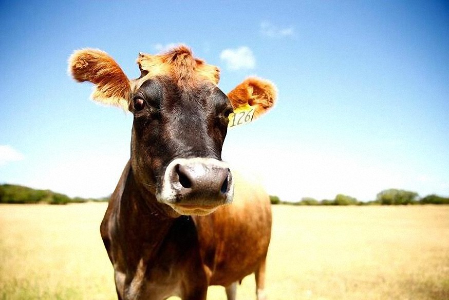
[[226,95],[217,87],[218,68],[184,46],[162,55],[139,53],[137,63],[141,76],[130,80],[105,52],[83,49],[70,57],[69,72],[96,85],[94,100],[134,114],[133,174],[158,202],[178,214],[200,215],[232,202],[232,174],[221,161],[228,116],[248,104],[255,118],[264,113],[275,100],[274,86],[248,78]]

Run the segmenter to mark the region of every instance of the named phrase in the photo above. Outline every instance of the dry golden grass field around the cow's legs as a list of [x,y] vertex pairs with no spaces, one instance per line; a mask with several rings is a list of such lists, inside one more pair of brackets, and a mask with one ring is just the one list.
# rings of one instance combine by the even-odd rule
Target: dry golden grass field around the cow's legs
[[[106,204],[0,205],[0,299],[115,299]],[[273,207],[267,293],[449,299],[449,206]],[[254,276],[237,290],[255,299]],[[211,287],[208,299],[226,299]]]

